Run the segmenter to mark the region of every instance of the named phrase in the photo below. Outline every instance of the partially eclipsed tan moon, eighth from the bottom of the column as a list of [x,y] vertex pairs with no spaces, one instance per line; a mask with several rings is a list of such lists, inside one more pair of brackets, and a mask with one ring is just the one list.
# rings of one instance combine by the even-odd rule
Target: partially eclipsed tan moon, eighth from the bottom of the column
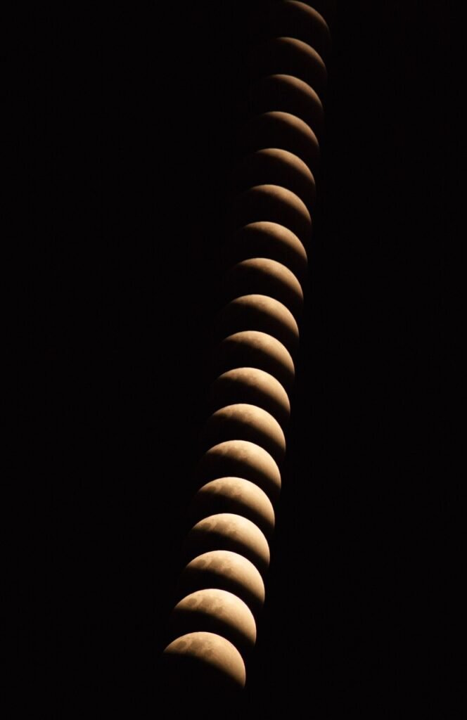
[[283,386],[275,377],[254,367],[229,370],[213,382],[209,393],[212,411],[248,402],[267,410],[285,431],[290,418],[290,401]]

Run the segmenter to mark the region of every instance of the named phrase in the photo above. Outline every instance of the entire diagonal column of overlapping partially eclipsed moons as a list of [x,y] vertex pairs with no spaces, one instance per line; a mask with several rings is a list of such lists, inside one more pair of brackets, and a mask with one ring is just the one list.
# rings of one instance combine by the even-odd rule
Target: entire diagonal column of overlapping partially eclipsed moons
[[225,208],[209,416],[163,652],[179,693],[241,692],[261,625],[319,196],[334,12],[332,0],[283,0],[251,18],[250,117],[238,128]]

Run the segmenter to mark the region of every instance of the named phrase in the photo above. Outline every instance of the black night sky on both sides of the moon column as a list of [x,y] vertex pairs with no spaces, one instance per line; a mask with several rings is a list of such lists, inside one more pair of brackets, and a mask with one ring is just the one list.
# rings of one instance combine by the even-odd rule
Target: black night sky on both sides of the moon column
[[[306,703],[319,718],[379,718],[415,676],[426,691],[447,667],[455,78],[449,3],[339,5],[283,498],[244,701],[264,714]],[[30,21],[48,469],[32,647],[37,703],[60,717],[91,698],[135,717],[153,707],[247,109],[247,6]]]

